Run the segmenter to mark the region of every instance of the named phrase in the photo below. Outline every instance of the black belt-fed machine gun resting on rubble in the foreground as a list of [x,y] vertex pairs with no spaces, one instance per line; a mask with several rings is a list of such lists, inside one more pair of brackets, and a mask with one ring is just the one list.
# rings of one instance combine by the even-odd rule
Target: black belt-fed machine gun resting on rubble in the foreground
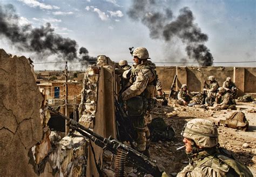
[[133,148],[122,144],[121,142],[111,137],[104,138],[99,134],[89,130],[77,121],[66,117],[64,114],[59,113],[52,107],[48,106],[48,110],[56,113],[60,117],[68,121],[68,126],[73,130],[82,134],[84,137],[89,138],[99,147],[112,152],[117,155],[116,166],[120,169],[118,176],[124,176],[125,162],[129,162],[135,166],[139,172],[143,174],[151,174],[153,176],[161,176],[161,172],[157,165],[147,158],[147,156],[137,152]]

